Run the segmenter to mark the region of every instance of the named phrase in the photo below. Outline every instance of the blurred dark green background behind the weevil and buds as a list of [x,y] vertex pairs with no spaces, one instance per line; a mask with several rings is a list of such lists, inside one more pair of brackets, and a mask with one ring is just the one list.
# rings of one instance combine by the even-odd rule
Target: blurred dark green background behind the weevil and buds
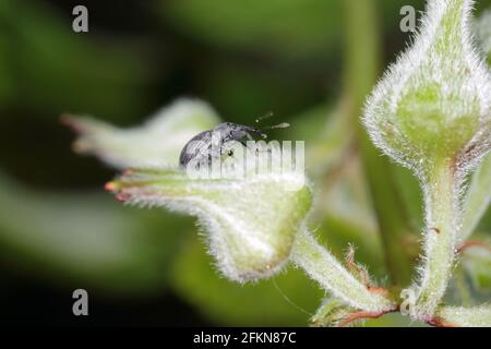
[[[395,59],[409,38],[399,9],[422,10],[423,1],[355,1],[376,19],[369,24],[376,37],[366,39],[379,46],[363,48],[360,36],[359,51],[347,43],[367,24],[360,14],[358,27],[345,1],[0,0],[1,322],[308,324],[324,297],[313,281],[292,267],[256,285],[223,279],[193,219],[113,201],[103,188],[115,171],[73,154],[73,134],[59,122],[73,112],[128,127],[180,96],[208,101],[227,121],[251,124],[273,110],[274,122],[290,122],[277,137],[306,140],[320,188],[318,233],[339,256],[355,243],[357,257],[387,281],[391,257],[351,144],[358,121],[347,116],[359,113],[364,96],[351,95],[350,109],[346,87],[363,74],[367,49],[379,60],[376,74]],[[76,4],[88,9],[89,33],[72,31]],[[478,11],[490,5],[479,1]],[[357,55],[351,61],[361,64],[352,68]],[[402,197],[392,209],[407,213],[417,232],[417,183],[387,166]],[[488,214],[482,228],[490,227]],[[405,238],[417,255],[418,237]],[[77,288],[88,291],[87,317],[72,315]],[[372,324],[407,323],[385,316]]]

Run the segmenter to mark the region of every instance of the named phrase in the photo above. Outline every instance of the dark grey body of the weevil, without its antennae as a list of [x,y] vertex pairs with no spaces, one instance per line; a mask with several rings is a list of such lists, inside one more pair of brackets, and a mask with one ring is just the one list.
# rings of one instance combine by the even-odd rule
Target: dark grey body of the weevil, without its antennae
[[230,141],[253,140],[252,135],[265,137],[264,133],[258,129],[233,123],[224,122],[214,129],[201,132],[192,137],[182,148],[179,157],[181,167],[185,167],[191,160],[211,161],[213,148],[221,149],[221,146]]

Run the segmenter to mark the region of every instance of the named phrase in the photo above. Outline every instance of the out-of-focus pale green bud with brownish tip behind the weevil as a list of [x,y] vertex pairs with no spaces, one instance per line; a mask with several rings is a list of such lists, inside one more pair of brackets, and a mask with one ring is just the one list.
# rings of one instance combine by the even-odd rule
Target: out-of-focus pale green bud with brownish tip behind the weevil
[[62,121],[79,137],[77,153],[92,154],[119,169],[127,167],[177,167],[182,147],[197,133],[212,129],[218,117],[203,101],[178,99],[157,111],[143,125],[118,129],[105,122],[71,116]]

